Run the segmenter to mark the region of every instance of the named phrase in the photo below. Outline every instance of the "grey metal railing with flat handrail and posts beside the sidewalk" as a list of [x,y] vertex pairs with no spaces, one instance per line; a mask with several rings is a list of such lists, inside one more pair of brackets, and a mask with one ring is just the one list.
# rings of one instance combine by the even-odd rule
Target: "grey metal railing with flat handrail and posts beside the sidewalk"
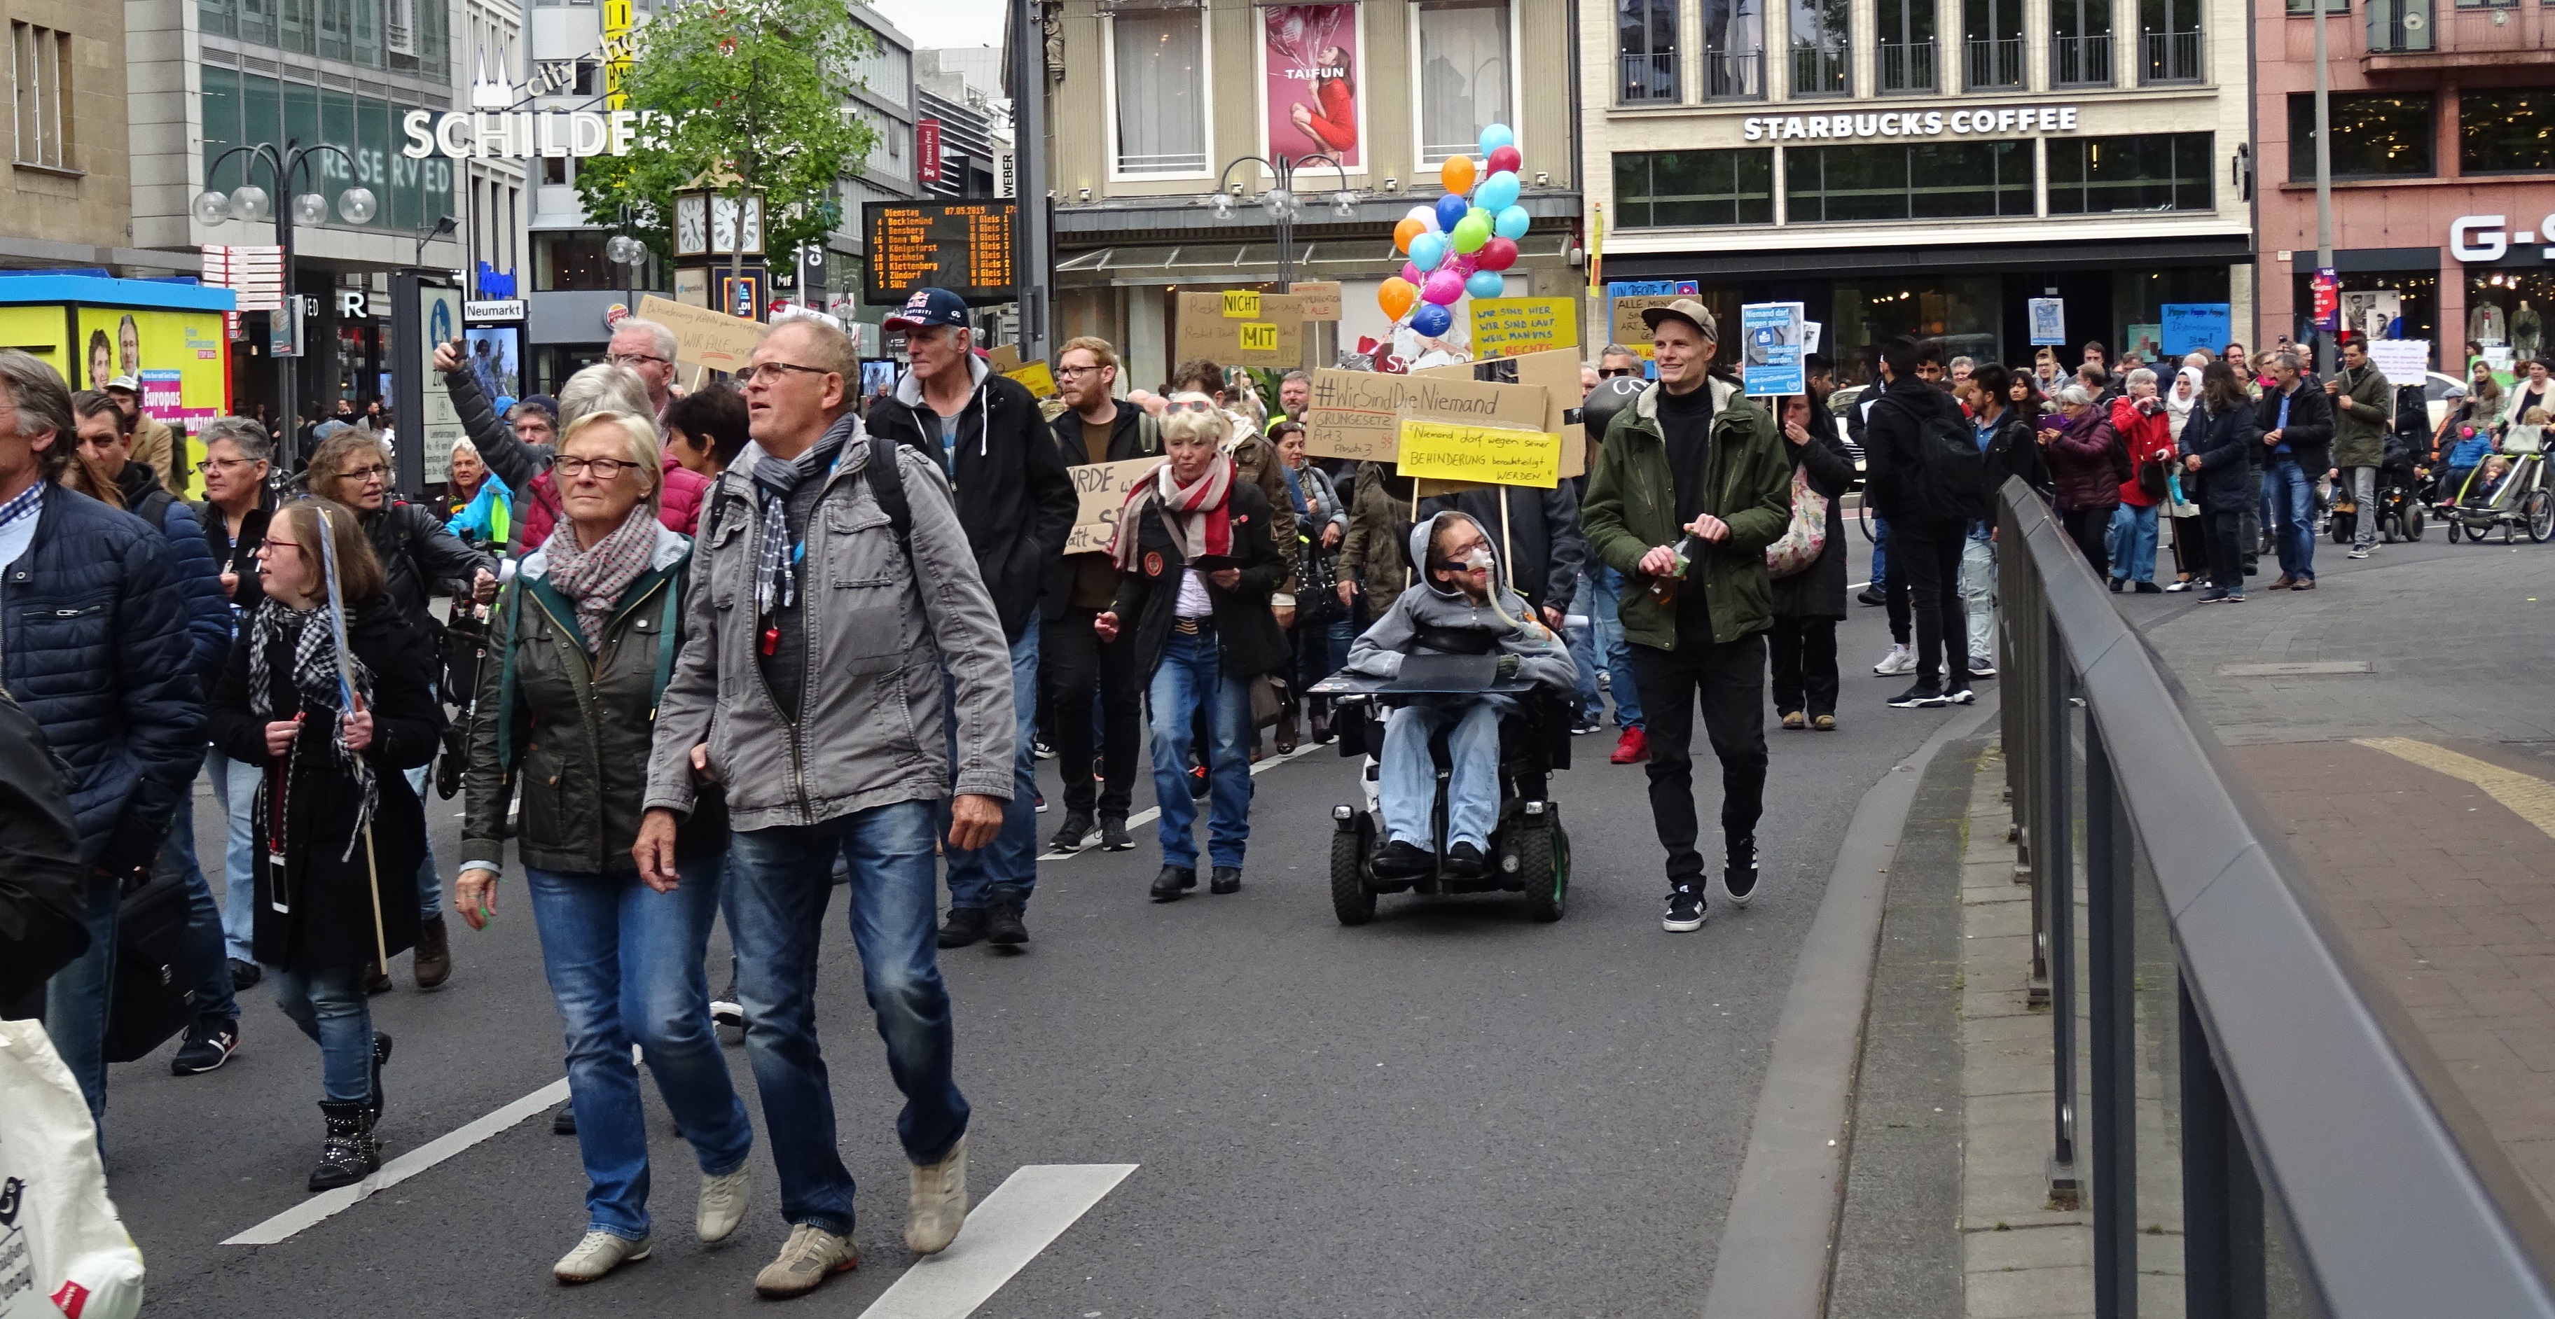
[[2149,1293],[2167,1314],[2555,1316],[2476,1171],[2506,1155],[2458,1145],[2279,831],[2021,481],[1998,493],[1998,598],[2049,1186],[2093,1209],[2093,1311],[2131,1319],[2141,1276],[2179,1273],[2179,1304]]

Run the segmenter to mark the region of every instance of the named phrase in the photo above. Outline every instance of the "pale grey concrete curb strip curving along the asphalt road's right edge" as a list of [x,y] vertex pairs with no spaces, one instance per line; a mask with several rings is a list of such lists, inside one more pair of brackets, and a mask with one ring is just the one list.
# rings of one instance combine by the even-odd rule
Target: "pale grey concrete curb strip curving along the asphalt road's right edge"
[[1766,1086],[1748,1125],[1748,1158],[1722,1222],[1704,1319],[1814,1319],[1827,1309],[1827,1268],[1845,1189],[1845,1117],[1855,1089],[1863,1010],[1870,999],[1880,910],[1898,831],[1924,769],[1947,744],[1995,716],[1998,698],[1952,716],[1909,759],[1880,775],[1827,877],[1773,1030]]

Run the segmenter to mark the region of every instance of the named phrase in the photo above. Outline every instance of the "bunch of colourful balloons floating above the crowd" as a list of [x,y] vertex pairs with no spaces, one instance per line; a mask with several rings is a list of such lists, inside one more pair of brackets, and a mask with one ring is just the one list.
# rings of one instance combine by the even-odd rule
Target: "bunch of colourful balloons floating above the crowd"
[[1395,325],[1408,320],[1423,337],[1438,337],[1454,325],[1456,302],[1507,291],[1500,271],[1518,263],[1518,240],[1533,225],[1518,204],[1520,164],[1518,135],[1495,123],[1482,130],[1482,164],[1449,156],[1438,166],[1446,197],[1433,207],[1410,207],[1392,225],[1392,248],[1410,261],[1375,294],[1385,317]]

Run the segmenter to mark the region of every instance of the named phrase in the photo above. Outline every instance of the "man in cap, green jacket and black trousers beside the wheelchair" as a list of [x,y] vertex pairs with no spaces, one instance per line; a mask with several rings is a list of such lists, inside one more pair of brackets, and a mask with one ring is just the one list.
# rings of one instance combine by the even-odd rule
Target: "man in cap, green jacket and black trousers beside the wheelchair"
[[1668,851],[1671,933],[1704,925],[1694,851],[1694,706],[1722,757],[1722,887],[1755,897],[1766,810],[1766,547],[1791,521],[1791,460],[1773,414],[1712,373],[1720,332],[1702,302],[1643,312],[1658,383],[1607,424],[1589,473],[1589,552],[1640,590],[1622,593],[1622,636],[1651,734],[1651,818]]

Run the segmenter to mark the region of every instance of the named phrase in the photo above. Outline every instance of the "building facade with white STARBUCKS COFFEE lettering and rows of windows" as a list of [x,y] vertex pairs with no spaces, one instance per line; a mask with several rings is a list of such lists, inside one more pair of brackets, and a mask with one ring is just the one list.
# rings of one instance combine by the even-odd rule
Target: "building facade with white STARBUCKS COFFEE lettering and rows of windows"
[[[1615,0],[1582,10],[1602,274],[2029,363],[2254,307],[2241,0]],[[2177,314],[2177,325],[2213,325]],[[2210,345],[2218,348],[2218,345]]]

